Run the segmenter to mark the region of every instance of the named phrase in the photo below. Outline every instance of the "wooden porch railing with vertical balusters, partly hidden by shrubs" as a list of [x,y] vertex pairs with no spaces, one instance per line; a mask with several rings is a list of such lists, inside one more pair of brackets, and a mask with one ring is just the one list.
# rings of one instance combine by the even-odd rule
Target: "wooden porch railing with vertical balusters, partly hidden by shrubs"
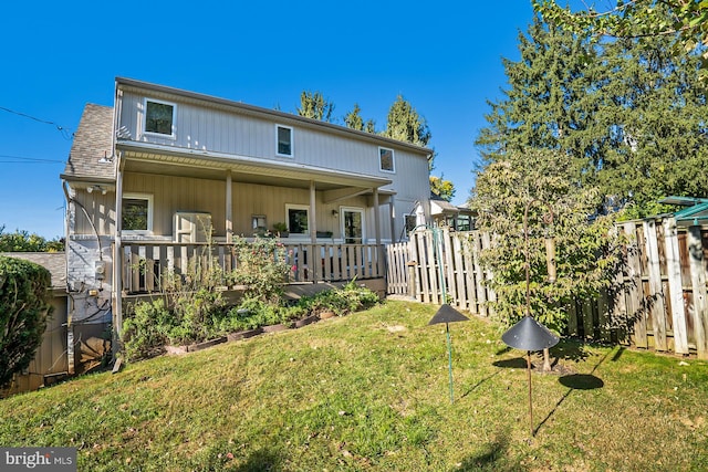
[[[290,282],[342,282],[385,275],[383,245],[287,241],[283,245],[285,262],[292,268]],[[238,266],[233,245],[227,243],[129,241],[121,252],[123,291],[128,294],[159,292],[167,274],[186,276],[210,264],[229,273]]]

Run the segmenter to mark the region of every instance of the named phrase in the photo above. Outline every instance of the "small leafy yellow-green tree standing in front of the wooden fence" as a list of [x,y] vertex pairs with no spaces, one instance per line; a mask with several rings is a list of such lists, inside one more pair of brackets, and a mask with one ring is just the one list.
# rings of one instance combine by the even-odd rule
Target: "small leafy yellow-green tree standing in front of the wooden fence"
[[[598,192],[571,178],[571,166],[565,153],[514,149],[477,177],[470,208],[478,212],[477,228],[496,235],[481,262],[494,274],[489,282],[498,297],[494,313],[509,325],[529,313],[560,333],[569,305],[596,296],[612,280],[617,262],[608,237],[612,220],[591,218]],[[555,244],[555,281],[549,280],[546,238]],[[550,369],[548,350],[544,355]]]

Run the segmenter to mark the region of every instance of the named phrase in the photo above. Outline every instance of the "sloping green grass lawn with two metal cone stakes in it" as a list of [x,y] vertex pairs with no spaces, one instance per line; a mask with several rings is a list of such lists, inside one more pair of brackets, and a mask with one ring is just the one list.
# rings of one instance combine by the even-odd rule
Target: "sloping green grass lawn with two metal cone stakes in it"
[[[532,375],[496,324],[389,301],[0,400],[3,447],[80,471],[701,471],[708,363],[561,342]],[[537,364],[539,364],[537,361]]]

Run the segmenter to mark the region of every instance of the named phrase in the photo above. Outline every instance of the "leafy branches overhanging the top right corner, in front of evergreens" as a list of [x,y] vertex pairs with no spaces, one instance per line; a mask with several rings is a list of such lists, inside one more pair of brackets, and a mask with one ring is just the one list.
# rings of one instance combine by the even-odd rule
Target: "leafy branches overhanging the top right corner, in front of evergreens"
[[590,32],[614,38],[678,39],[675,55],[700,50],[702,75],[708,73],[708,2],[696,0],[632,0],[617,1],[615,8],[596,11],[594,8],[573,12],[555,0],[534,0],[533,8],[548,22],[576,32]]

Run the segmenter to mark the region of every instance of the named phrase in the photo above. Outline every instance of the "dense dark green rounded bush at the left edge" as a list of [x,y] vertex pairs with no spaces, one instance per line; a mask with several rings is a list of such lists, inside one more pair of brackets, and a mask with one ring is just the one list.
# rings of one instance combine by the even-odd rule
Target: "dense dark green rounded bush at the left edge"
[[0,256],[0,386],[25,369],[42,344],[51,282],[41,265]]

